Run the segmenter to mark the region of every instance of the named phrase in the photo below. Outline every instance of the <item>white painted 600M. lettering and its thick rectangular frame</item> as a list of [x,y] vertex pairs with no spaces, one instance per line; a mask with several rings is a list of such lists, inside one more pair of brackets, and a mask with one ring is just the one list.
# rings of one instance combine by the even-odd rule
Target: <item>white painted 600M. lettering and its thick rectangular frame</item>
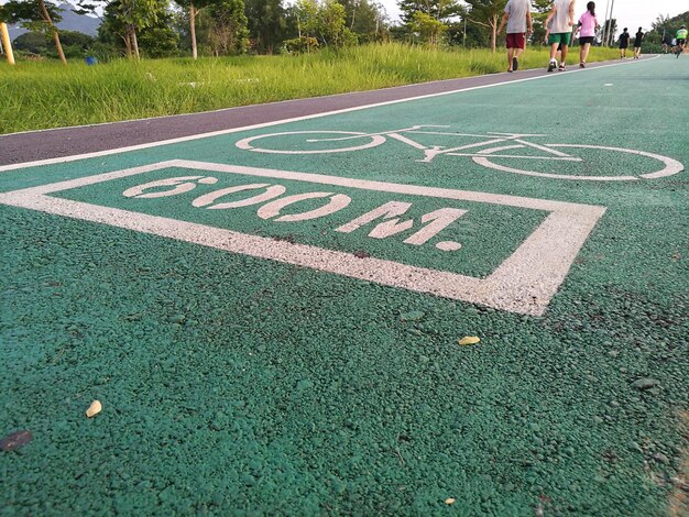
[[[391,260],[356,257],[351,253],[328,250],[316,245],[291,243],[178,219],[151,216],[147,213],[51,196],[63,190],[97,185],[130,176],[145,175],[145,173],[171,167],[189,169],[189,172],[196,175],[169,178],[166,184],[161,184],[160,180],[149,182],[147,185],[156,183],[158,187],[172,187],[171,190],[178,194],[189,191],[194,188],[188,182],[215,185],[216,182],[214,182],[214,179],[217,178],[208,176],[209,173],[245,175],[260,178],[260,180],[247,186],[247,189],[259,190],[260,193],[267,191],[266,189],[270,188],[269,184],[265,183],[265,178],[311,184],[313,188],[318,190],[318,193],[316,193],[316,195],[302,195],[302,199],[309,196],[311,198],[319,198],[322,199],[325,207],[330,208],[324,208],[318,213],[314,211],[304,212],[303,216],[307,219],[327,217],[328,212],[339,209],[339,207],[344,207],[349,202],[349,196],[339,195],[338,197],[338,195],[321,191],[327,190],[324,189],[324,185],[350,188],[351,196],[356,196],[357,191],[372,190],[378,193],[404,194],[419,198],[464,200],[535,209],[549,213],[535,231],[533,231],[490,275],[485,278],[477,278],[448,271],[414,266]],[[127,189],[125,193],[131,198],[141,198],[145,190],[145,185],[140,185],[139,187]],[[270,196],[262,197],[261,194],[255,195],[255,193],[250,193],[249,196],[253,196],[254,200],[258,199],[255,204],[267,200],[267,205],[263,205],[259,210],[263,209],[266,217],[277,217],[280,216],[281,208],[286,204],[298,200],[295,199],[295,196],[292,196],[292,199],[281,198],[280,196],[282,196],[282,194],[280,189],[273,189]],[[278,199],[282,199],[282,201],[276,201]],[[198,209],[205,210],[211,208],[209,207],[209,202],[212,204],[214,201],[215,198],[206,198],[203,202],[197,204]],[[597,221],[605,211],[605,208],[600,206],[184,160],[160,162],[153,165],[144,165],[78,179],[58,182],[40,187],[14,190],[1,194],[0,204],[39,210],[73,219],[110,224],[112,227],[225,250],[231,253],[247,254],[259,258],[310,267],[392,287],[430,293],[437,296],[482,304],[506,311],[533,316],[542,315],[545,311],[550,299],[565,279],[580,248],[583,245]],[[401,206],[402,204],[398,205],[397,207],[393,207],[389,204],[385,210],[400,210],[400,212],[403,213],[402,209],[404,207]],[[453,219],[460,217],[462,212],[463,210],[455,209],[455,211],[452,211],[452,209],[440,209],[426,215],[425,221],[422,221],[425,222],[426,226],[407,239],[407,241],[414,241],[411,242],[412,244],[426,242],[430,233],[433,233],[430,230],[431,226],[435,224],[438,228],[442,227],[442,224],[447,224],[448,221],[451,222]],[[364,215],[358,220],[352,221],[352,228],[360,223],[365,224],[372,222],[373,219],[371,219],[371,217],[370,215]],[[295,219],[293,218],[293,220]],[[375,224],[376,222],[380,221],[373,223]],[[343,230],[349,230],[349,227],[343,228]],[[382,237],[396,232],[394,224],[378,224],[374,230],[379,231]],[[461,244],[452,241],[441,241],[436,244],[436,246],[440,250],[451,252],[459,250]]]

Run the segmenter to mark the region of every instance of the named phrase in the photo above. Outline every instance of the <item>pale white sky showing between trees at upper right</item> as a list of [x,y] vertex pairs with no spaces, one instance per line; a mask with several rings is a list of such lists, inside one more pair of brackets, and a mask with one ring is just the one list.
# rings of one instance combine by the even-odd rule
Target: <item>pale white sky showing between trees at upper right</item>
[[[400,19],[400,9],[397,0],[379,0],[391,21]],[[605,7],[612,0],[594,0],[597,15],[601,19],[605,16]],[[577,16],[583,13],[588,0],[577,0]],[[676,16],[689,10],[687,0],[614,0],[614,10],[612,18],[617,20],[620,29],[630,28],[630,32],[636,32],[641,26],[644,31],[650,30],[650,24],[656,21],[658,15],[669,14]]]

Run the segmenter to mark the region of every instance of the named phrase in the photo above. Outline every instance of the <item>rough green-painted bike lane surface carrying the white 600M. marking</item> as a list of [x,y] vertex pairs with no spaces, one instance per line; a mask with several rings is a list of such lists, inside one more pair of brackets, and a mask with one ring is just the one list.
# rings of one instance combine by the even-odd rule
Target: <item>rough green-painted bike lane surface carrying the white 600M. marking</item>
[[[1,433],[34,437],[0,455],[3,512],[665,514],[688,74],[660,57],[1,172]],[[324,141],[350,133],[385,142]],[[342,145],[365,148],[293,153]]]

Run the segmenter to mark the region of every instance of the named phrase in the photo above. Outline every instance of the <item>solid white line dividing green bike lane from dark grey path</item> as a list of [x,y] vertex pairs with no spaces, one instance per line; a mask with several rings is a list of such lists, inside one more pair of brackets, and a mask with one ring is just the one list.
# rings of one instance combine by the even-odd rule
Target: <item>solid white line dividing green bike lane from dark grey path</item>
[[[220,130],[220,131],[211,131],[208,133],[200,133],[200,134],[194,134],[194,135],[189,135],[189,136],[181,136],[177,139],[169,139],[169,140],[162,140],[160,142],[149,142],[145,144],[138,144],[138,145],[129,145],[125,147],[118,147],[118,148],[111,148],[111,150],[106,150],[106,151],[96,151],[94,153],[84,153],[84,154],[75,154],[72,156],[61,156],[61,157],[56,157],[56,158],[47,158],[47,160],[37,160],[34,162],[25,162],[25,163],[21,163],[21,164],[10,164],[10,165],[0,165],[0,173],[4,173],[4,172],[9,172],[9,170],[17,170],[19,168],[24,168],[24,167],[35,167],[35,166],[40,166],[40,165],[53,165],[53,164],[61,164],[61,163],[67,163],[67,162],[75,162],[78,160],[86,160],[86,158],[94,158],[94,157],[98,157],[98,156],[108,156],[111,154],[119,154],[119,153],[125,153],[129,151],[140,151],[140,150],[144,150],[144,148],[151,148],[151,147],[157,147],[161,145],[169,145],[169,144],[176,144],[176,143],[182,143],[182,142],[189,142],[193,140],[198,140],[198,139],[207,139],[210,136],[219,136],[222,134],[231,134],[231,133],[238,133],[241,131],[250,131],[250,130],[254,130],[254,129],[261,129],[261,128],[269,128],[271,125],[278,125],[278,124],[284,124],[284,123],[288,123],[288,122],[299,122],[303,120],[311,120],[311,119],[318,119],[318,118],[322,118],[322,117],[330,117],[330,116],[336,116],[336,114],[341,114],[341,113],[349,113],[352,111],[360,111],[360,110],[367,110],[367,109],[371,109],[371,108],[379,108],[382,106],[391,106],[391,105],[397,105],[401,102],[411,102],[411,101],[415,101],[415,100],[420,100],[420,99],[430,99],[434,97],[441,97],[441,96],[448,96],[448,95],[453,95],[453,94],[459,94],[459,92],[463,92],[463,91],[473,91],[473,90],[480,90],[480,89],[484,89],[484,88],[493,88],[496,86],[504,86],[504,85],[514,85],[517,82],[526,82],[526,81],[531,81],[531,80],[537,80],[537,79],[544,79],[546,77],[558,77],[558,76],[562,76],[565,74],[573,74],[573,73],[581,73],[581,72],[594,72],[594,70],[600,70],[602,68],[608,68],[611,66],[621,66],[621,65],[627,65],[628,63],[613,63],[610,65],[602,65],[602,66],[597,66],[595,68],[584,68],[583,70],[570,70],[570,72],[565,72],[565,73],[560,73],[557,75],[543,75],[543,76],[537,76],[537,77],[526,77],[524,79],[516,79],[516,80],[508,80],[508,81],[502,81],[502,82],[494,82],[491,85],[482,85],[482,86],[472,86],[470,88],[459,88],[457,90],[450,90],[450,91],[440,91],[437,94],[427,94],[427,95],[423,95],[423,96],[417,96],[417,97],[409,97],[407,99],[397,99],[397,100],[389,100],[389,101],[384,101],[384,102],[375,102],[372,105],[365,105],[365,106],[357,106],[353,108],[344,108],[341,110],[335,110],[335,111],[326,111],[324,113],[314,113],[314,114],[309,114],[309,116],[304,116],[304,117],[294,117],[291,119],[283,119],[283,120],[276,120],[273,122],[263,122],[260,124],[253,124],[253,125],[245,125],[243,128],[232,128],[232,129],[227,129],[227,130]],[[198,113],[194,113],[194,114],[198,114]],[[112,122],[116,123],[116,122]]]

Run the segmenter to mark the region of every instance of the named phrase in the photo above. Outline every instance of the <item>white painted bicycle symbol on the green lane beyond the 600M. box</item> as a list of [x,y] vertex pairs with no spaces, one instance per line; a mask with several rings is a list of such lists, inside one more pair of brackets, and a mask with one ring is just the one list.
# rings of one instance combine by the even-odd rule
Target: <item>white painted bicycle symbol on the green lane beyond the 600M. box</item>
[[[422,163],[430,163],[436,156],[463,156],[470,157],[473,162],[484,167],[506,173],[524,174],[527,176],[540,176],[546,178],[558,179],[583,179],[597,182],[620,182],[634,179],[655,179],[664,176],[671,176],[683,170],[683,165],[677,160],[663,156],[659,154],[647,153],[645,151],[636,151],[624,147],[611,147],[606,145],[590,144],[537,144],[525,139],[545,138],[545,134],[528,133],[499,133],[486,132],[486,134],[470,134],[456,132],[431,131],[431,129],[449,128],[448,125],[412,125],[398,130],[381,131],[376,133],[362,133],[356,131],[287,131],[282,133],[261,134],[250,136],[237,142],[237,147],[255,153],[272,154],[326,154],[326,153],[347,153],[353,151],[362,151],[371,147],[378,147],[386,142],[386,139],[393,139],[406,145],[423,151],[424,157],[417,160]],[[411,136],[412,135],[412,136]],[[444,145],[424,145],[413,135],[437,135],[437,136],[458,136],[470,139],[485,139],[480,142],[472,142],[459,146]],[[285,144],[285,138],[287,142]],[[295,139],[296,138],[296,139]],[[426,136],[424,136],[426,138]],[[282,145],[282,147],[281,147]],[[532,154],[518,154],[517,150],[528,150]],[[534,154],[536,150],[537,154]],[[568,151],[567,153],[560,150]],[[576,151],[575,151],[576,150]],[[583,150],[583,153],[581,152]],[[578,174],[558,174],[557,172],[537,172],[526,168],[516,168],[512,164],[516,161],[524,163],[534,163],[534,161],[547,161],[559,163],[581,163],[586,165],[587,170],[595,168],[595,164],[586,160],[586,150],[594,152],[622,153],[622,155],[635,155],[647,158],[652,163],[648,168],[650,170],[641,170],[636,175],[578,175]],[[571,154],[569,154],[571,153]],[[620,155],[620,156],[622,156]],[[508,160],[510,165],[495,163],[496,160]],[[659,162],[659,163],[658,163]],[[526,167],[526,165],[524,165]],[[604,167],[600,167],[604,168]],[[647,168],[644,166],[644,168]]]

